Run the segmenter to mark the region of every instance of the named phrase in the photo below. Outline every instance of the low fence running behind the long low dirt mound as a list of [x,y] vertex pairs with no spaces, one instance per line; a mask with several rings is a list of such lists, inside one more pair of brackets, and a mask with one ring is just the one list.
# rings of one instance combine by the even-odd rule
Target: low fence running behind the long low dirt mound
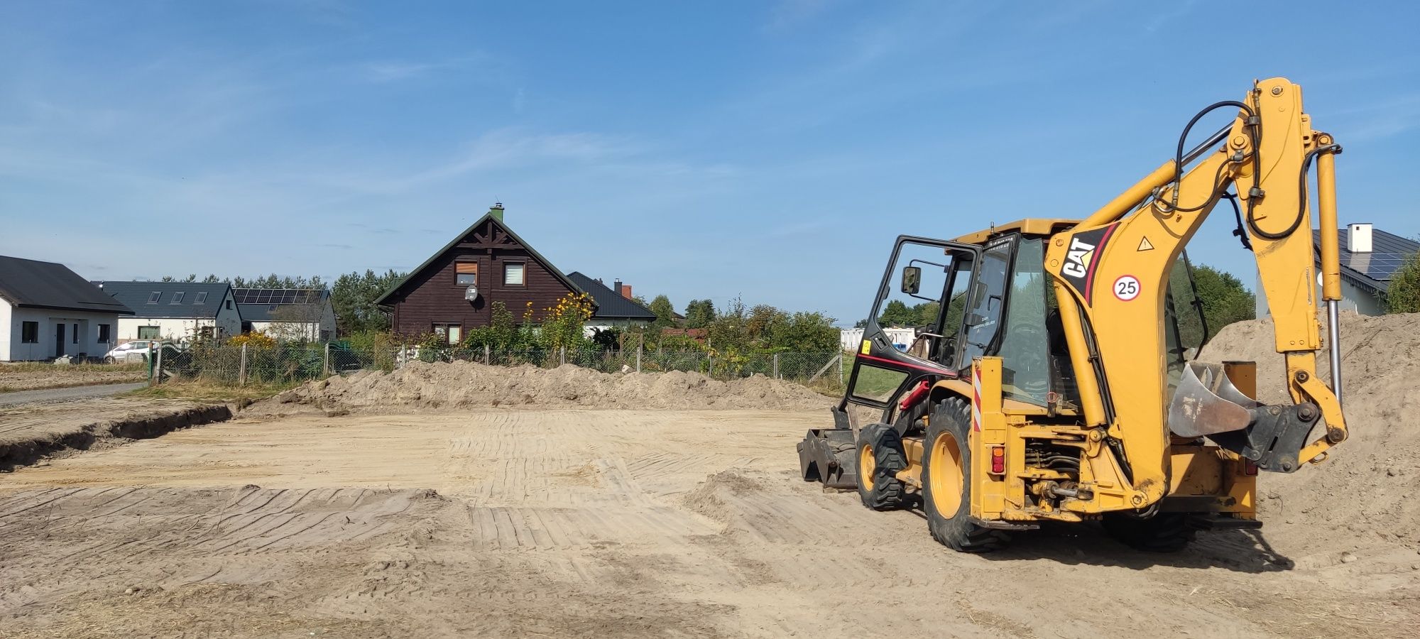
[[601,372],[699,372],[713,379],[764,375],[824,389],[842,389],[843,358],[839,352],[780,352],[721,355],[707,351],[496,351],[456,348],[352,349],[331,345],[195,346],[162,348],[153,358],[156,382],[207,379],[223,383],[290,383],[358,371],[395,371],[408,362],[479,362],[496,366],[565,364]]

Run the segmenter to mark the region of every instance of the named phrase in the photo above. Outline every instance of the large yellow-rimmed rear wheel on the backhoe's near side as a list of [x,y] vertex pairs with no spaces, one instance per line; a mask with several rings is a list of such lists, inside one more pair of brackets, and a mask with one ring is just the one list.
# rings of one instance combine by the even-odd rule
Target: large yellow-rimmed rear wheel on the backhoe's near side
[[971,408],[960,398],[937,405],[922,459],[922,503],[932,538],[961,552],[1001,550],[1010,535],[971,521]]

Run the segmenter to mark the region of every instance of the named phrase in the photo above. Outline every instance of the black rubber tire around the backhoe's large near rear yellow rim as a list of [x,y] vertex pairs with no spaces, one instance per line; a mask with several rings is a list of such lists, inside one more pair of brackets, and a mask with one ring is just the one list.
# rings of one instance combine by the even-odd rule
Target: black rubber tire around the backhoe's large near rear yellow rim
[[[927,515],[927,530],[932,538],[940,544],[960,552],[991,552],[1011,541],[1011,535],[1004,530],[984,528],[971,523],[971,406],[961,398],[943,399],[932,413],[932,423],[927,426],[927,436],[922,442],[922,510]],[[932,473],[953,471],[953,469],[933,469],[932,450],[939,437],[950,436],[957,440],[961,456],[961,501],[956,513],[939,513],[937,503],[932,494]],[[946,497],[944,497],[946,498]]]

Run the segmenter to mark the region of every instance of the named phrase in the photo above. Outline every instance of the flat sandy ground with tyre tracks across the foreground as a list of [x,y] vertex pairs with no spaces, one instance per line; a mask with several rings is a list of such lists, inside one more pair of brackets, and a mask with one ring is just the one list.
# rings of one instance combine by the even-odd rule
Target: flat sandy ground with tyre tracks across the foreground
[[1093,531],[953,554],[916,513],[799,481],[794,443],[819,422],[301,416],[77,454],[0,476],[0,623],[20,638],[1394,638],[1420,622],[1416,548],[1274,535],[1305,515],[1181,555]]

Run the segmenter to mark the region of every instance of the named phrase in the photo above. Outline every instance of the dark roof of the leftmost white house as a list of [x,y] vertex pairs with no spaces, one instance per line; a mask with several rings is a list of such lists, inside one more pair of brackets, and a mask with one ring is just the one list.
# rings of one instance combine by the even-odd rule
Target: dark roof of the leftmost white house
[[23,308],[133,314],[67,266],[21,257],[0,256],[0,297]]

